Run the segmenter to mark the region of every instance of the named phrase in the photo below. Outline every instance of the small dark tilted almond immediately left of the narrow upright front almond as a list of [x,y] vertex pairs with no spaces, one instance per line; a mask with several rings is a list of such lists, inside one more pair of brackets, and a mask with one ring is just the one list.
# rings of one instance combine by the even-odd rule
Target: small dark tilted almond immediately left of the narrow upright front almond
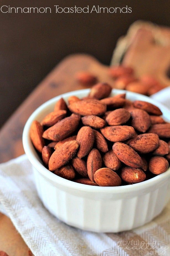
[[79,157],[74,157],[72,160],[72,166],[82,177],[88,177],[87,174],[87,164],[85,160],[80,159]]

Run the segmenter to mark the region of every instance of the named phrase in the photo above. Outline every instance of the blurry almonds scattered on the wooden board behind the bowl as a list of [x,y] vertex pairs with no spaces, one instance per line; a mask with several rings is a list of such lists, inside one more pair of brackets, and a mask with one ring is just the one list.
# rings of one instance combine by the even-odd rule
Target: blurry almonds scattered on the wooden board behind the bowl
[[[137,92],[150,96],[160,90],[165,85],[155,77],[143,74],[141,77],[135,75],[134,69],[129,66],[111,66],[107,69],[108,77],[113,79],[113,87],[116,89],[125,89],[127,91]],[[83,85],[93,85],[98,81],[98,77],[90,72],[78,72],[76,79]]]

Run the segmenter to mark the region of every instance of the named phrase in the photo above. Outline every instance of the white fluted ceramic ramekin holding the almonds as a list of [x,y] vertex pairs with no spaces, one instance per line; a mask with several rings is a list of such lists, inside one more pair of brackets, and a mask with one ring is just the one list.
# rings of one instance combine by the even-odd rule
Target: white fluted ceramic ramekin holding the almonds
[[[23,130],[23,147],[33,165],[38,195],[45,207],[68,225],[94,232],[120,232],[150,222],[161,213],[170,198],[170,168],[163,174],[133,185],[98,187],[63,179],[47,170],[30,140],[33,120],[41,121],[53,111],[54,104],[71,95],[87,96],[89,89],[72,91],[57,96],[29,117]],[[124,93],[113,89],[112,94]],[[170,122],[170,111],[149,97],[126,92],[127,99],[148,101],[158,106],[164,119]]]

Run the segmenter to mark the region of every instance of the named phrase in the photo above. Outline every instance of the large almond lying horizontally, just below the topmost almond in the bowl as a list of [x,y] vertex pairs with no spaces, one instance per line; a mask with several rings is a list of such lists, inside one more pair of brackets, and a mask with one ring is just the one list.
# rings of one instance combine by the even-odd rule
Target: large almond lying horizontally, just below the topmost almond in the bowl
[[81,116],[101,116],[106,112],[106,105],[96,99],[86,99],[73,102],[68,106],[71,112]]

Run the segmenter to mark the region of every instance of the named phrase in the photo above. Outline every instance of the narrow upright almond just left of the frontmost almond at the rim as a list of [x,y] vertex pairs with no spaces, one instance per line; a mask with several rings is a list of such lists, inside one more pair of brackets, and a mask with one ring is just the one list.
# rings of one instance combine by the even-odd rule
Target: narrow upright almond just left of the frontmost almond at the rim
[[96,170],[100,169],[102,166],[102,158],[97,149],[92,149],[87,157],[87,173],[91,181],[94,180],[94,174]]

